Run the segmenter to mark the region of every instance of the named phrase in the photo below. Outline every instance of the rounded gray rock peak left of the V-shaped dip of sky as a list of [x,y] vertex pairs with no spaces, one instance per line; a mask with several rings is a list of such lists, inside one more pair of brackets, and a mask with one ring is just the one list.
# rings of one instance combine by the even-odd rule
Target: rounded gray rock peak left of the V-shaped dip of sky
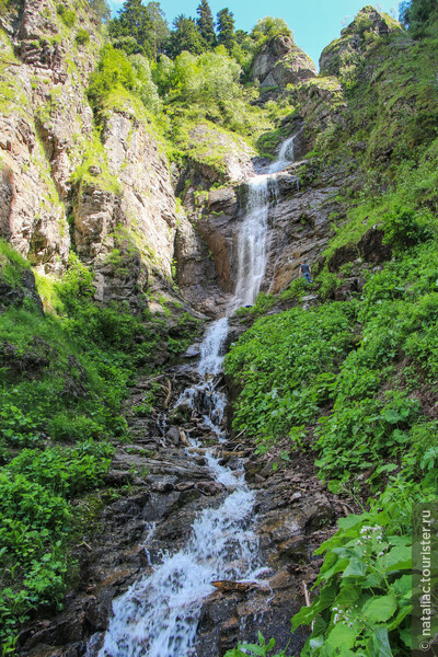
[[286,87],[314,78],[316,67],[289,36],[276,36],[256,55],[252,79],[262,87]]

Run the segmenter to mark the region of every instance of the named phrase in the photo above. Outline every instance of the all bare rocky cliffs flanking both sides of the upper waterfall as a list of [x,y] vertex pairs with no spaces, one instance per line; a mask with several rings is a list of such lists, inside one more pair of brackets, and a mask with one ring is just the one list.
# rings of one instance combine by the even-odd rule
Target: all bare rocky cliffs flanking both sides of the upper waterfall
[[[87,45],[78,43],[79,25]],[[189,130],[185,163],[171,176],[160,141],[129,103],[97,117],[97,134],[85,90],[102,38],[84,7],[78,3],[68,27],[54,0],[25,0],[2,28],[0,234],[44,273],[61,274],[74,249],[95,273],[96,299],[132,309],[147,290],[172,293],[176,258],[184,297],[210,315],[223,312],[235,286],[245,181],[261,168],[256,153],[205,120]],[[342,217],[335,197],[355,185],[351,161],[321,168],[302,158],[335,126],[346,127],[345,87],[358,71],[367,74],[359,60],[374,39],[397,28],[365,8],[323,51],[320,76],[290,37],[275,37],[255,57],[252,79],[296,107],[279,126],[284,137],[296,135],[297,162],[278,176],[272,198],[264,290],[287,286],[304,255],[316,261],[330,216]],[[175,194],[184,204],[178,217]]]

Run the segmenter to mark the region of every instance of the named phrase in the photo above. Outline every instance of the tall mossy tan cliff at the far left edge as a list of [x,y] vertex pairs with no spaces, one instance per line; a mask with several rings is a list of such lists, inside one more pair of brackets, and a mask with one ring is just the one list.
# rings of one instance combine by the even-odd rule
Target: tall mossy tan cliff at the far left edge
[[76,48],[76,33],[61,28],[53,0],[25,0],[19,24],[5,25],[11,39],[0,39],[1,84],[8,90],[0,113],[0,234],[34,266],[53,273],[64,269],[69,251],[65,199],[78,163],[74,136],[92,130],[84,90],[100,37],[90,16],[78,11],[90,34],[87,49]]

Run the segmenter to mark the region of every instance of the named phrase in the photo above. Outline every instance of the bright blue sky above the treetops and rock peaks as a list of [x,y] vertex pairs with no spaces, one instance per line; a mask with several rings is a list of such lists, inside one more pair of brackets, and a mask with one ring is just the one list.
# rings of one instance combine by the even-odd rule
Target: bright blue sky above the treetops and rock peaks
[[[124,0],[108,0],[113,12],[122,8]],[[148,0],[143,0],[145,4]],[[175,15],[184,13],[196,16],[198,0],[161,0],[169,24]],[[228,7],[235,19],[237,28],[251,30],[258,19],[266,15],[284,19],[293,31],[298,46],[318,64],[322,49],[334,38],[345,25],[345,21],[354,19],[355,14],[366,4],[374,4],[391,13],[396,12],[399,0],[210,0],[211,11],[218,12]]]

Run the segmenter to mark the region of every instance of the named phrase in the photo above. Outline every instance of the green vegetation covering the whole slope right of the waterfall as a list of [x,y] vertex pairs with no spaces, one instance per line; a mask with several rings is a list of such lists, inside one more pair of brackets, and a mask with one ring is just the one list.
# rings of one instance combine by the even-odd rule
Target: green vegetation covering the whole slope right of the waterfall
[[[438,392],[437,51],[435,14],[420,7],[430,9],[410,3],[417,42],[408,56],[406,35],[371,37],[361,20],[365,58],[344,62],[350,76],[341,71],[336,101],[346,104],[347,125],[328,125],[310,153],[316,176],[341,161],[358,174],[335,199],[324,253],[327,263],[350,246],[355,262],[337,272],[320,266],[319,303],[310,309],[297,295],[297,307],[281,312],[280,296],[262,295],[239,311],[244,321],[257,319],[226,358],[241,391],[235,431],[252,437],[258,452],[286,437],[291,450],[313,451],[328,489],[362,507],[318,551],[325,561],[313,602],[292,620],[293,630],[311,627],[301,653],[309,657],[407,654],[412,505],[438,499],[430,402]],[[422,27],[413,19],[420,15]],[[325,80],[324,91],[335,82],[338,94],[337,81]],[[299,95],[295,102],[299,112]],[[379,267],[357,260],[357,243],[376,224],[393,255]],[[364,288],[328,301],[351,276]]]

